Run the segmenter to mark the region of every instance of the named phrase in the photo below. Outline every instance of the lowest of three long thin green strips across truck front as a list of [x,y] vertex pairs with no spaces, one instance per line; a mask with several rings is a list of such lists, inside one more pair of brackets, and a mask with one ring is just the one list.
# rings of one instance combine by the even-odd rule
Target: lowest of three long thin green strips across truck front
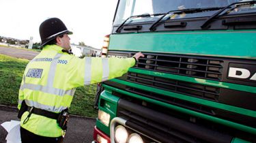
[[157,101],[157,100],[154,100],[154,99],[143,97],[141,95],[137,95],[137,94],[134,94],[134,93],[129,93],[129,92],[123,91],[121,89],[116,89],[114,87],[107,86],[105,84],[103,86],[104,86],[105,89],[109,89],[111,91],[116,91],[117,93],[122,93],[124,95],[135,97],[137,99],[143,99],[145,101],[149,101],[149,102],[151,102],[153,104],[157,104],[159,106],[164,106],[166,108],[170,108],[170,109],[176,110],[178,112],[183,112],[185,114],[190,114],[190,115],[193,115],[193,116],[197,116],[199,118],[204,118],[205,120],[212,121],[214,123],[219,123],[219,124],[225,125],[227,127],[233,127],[235,129],[239,129],[241,131],[246,131],[248,133],[253,133],[253,134],[256,135],[256,129],[253,128],[253,127],[248,127],[246,125],[241,125],[241,124],[234,123],[234,122],[231,122],[231,121],[226,121],[226,120],[223,120],[221,118],[216,118],[214,116],[210,116],[210,115],[207,115],[207,114],[202,114],[202,113],[199,113],[199,112],[195,112],[193,110],[188,110],[186,108],[180,108],[178,106],[173,106],[171,104],[166,104],[166,103],[161,102],[161,101]]

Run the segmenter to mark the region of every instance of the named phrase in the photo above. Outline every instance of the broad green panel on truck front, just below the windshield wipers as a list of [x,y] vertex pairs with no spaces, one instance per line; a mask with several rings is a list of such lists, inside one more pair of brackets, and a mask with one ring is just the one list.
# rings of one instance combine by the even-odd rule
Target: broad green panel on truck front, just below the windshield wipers
[[256,59],[254,29],[122,33],[110,38],[109,50]]

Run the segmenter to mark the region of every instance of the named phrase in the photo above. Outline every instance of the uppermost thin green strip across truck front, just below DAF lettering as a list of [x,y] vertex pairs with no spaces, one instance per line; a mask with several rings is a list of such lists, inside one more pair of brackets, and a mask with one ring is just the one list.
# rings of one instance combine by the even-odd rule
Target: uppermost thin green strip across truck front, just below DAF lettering
[[[169,78],[169,79],[174,79],[174,80],[181,80],[185,82],[194,82],[197,84],[205,84],[205,85],[210,85],[210,86],[217,86],[221,88],[226,88],[226,89],[233,89],[233,90],[238,90],[238,91],[246,91],[250,93],[256,93],[256,87],[253,86],[245,86],[241,84],[231,84],[227,82],[217,82],[214,80],[205,80],[201,78],[191,78],[188,76],[179,76],[179,75],[174,75],[174,74],[166,74],[166,73],[160,73],[160,72],[153,72],[153,71],[147,71],[143,69],[134,69],[130,68],[129,72],[135,72],[139,74],[147,74],[149,76],[158,76],[162,78]],[[256,96],[256,95],[255,95]]]

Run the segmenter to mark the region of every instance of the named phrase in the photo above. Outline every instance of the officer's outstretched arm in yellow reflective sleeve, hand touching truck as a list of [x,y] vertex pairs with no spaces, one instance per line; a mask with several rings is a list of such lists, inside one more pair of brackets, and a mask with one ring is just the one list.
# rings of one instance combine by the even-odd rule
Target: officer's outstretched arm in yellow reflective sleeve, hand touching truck
[[141,52],[135,55],[134,58],[126,59],[115,57],[85,57],[84,59],[70,60],[70,66],[68,66],[68,84],[74,88],[122,76],[128,72],[130,67],[134,66],[136,63],[135,59],[144,57]]

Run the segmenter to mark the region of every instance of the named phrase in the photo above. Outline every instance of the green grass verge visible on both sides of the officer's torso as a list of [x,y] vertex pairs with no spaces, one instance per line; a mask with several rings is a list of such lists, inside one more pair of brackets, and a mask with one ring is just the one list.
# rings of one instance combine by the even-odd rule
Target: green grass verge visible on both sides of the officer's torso
[[[27,63],[29,63],[27,59],[0,54],[0,104],[17,106],[18,89]],[[96,84],[77,88],[70,106],[70,114],[96,118],[95,94]]]

